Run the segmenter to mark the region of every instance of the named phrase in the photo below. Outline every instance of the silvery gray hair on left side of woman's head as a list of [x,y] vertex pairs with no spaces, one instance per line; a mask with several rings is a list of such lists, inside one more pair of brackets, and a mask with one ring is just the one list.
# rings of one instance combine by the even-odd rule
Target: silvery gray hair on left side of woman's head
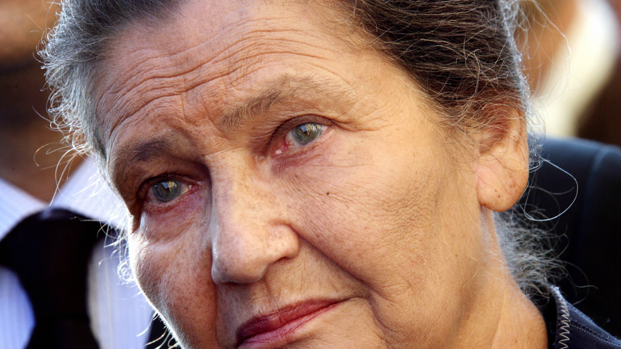
[[109,39],[133,22],[165,20],[179,4],[179,0],[61,0],[58,22],[39,55],[52,88],[48,112],[78,153],[106,158],[91,97]]

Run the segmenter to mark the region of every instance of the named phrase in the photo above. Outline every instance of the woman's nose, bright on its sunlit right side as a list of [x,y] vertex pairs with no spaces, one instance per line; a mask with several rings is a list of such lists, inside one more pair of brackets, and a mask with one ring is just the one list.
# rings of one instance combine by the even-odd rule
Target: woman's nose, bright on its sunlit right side
[[[236,178],[235,178],[236,177]],[[212,181],[212,266],[214,283],[253,283],[274,262],[294,258],[299,238],[265,181],[229,176]]]

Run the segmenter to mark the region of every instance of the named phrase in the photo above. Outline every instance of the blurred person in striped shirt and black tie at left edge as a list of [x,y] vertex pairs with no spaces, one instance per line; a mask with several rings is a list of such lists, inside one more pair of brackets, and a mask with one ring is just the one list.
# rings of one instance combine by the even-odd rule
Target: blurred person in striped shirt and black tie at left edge
[[[104,248],[104,239],[97,240],[97,235],[104,235],[101,223],[59,220],[79,216],[108,222],[118,202],[109,189],[95,183],[98,177],[91,160],[75,157],[73,166],[68,166],[71,156],[61,148],[61,135],[45,118],[49,91],[44,89],[35,50],[59,9],[42,0],[0,2],[0,348],[145,348],[152,310],[137,288],[119,281],[119,258],[111,256],[113,248]],[[39,220],[52,222],[56,229],[51,242],[43,242]],[[86,227],[79,233],[93,242],[92,253],[67,256],[70,244],[62,233],[70,225]],[[70,271],[75,264],[78,271]],[[80,271],[86,274],[82,281],[66,281]],[[52,284],[46,286],[45,280]],[[78,294],[82,301],[76,300],[75,292],[82,293]],[[61,309],[57,299],[63,296],[71,299]],[[58,312],[81,317],[67,307],[86,309],[89,319],[79,320],[86,324],[85,332],[90,328],[92,333],[70,338],[77,332],[70,324],[74,319],[53,324],[60,319]],[[59,326],[70,336],[64,337]],[[161,335],[163,329],[159,331]],[[152,338],[160,337],[154,334]],[[92,345],[80,336],[91,338]]]

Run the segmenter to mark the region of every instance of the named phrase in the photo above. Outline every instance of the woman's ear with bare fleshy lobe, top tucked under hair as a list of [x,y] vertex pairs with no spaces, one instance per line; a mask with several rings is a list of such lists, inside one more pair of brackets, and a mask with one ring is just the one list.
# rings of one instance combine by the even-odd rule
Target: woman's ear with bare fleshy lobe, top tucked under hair
[[513,108],[494,108],[492,122],[477,137],[474,160],[476,194],[481,206],[506,211],[517,202],[528,183],[526,122]]

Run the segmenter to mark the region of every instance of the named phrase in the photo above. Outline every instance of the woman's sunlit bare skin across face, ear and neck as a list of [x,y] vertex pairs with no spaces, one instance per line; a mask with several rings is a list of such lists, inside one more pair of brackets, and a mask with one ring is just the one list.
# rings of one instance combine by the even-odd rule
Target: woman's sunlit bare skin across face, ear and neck
[[526,185],[523,123],[462,147],[338,16],[191,1],[112,42],[97,115],[140,288],[185,348],[545,348],[492,223]]

